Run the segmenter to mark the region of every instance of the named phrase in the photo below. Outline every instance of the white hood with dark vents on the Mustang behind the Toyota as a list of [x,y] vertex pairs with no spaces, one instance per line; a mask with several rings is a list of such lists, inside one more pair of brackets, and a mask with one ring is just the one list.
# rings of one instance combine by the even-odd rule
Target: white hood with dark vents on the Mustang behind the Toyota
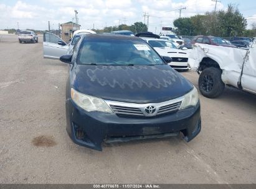
[[161,56],[168,57],[183,57],[187,58],[187,53],[184,50],[180,50],[177,48],[169,48],[169,47],[154,47],[154,50],[159,53]]

